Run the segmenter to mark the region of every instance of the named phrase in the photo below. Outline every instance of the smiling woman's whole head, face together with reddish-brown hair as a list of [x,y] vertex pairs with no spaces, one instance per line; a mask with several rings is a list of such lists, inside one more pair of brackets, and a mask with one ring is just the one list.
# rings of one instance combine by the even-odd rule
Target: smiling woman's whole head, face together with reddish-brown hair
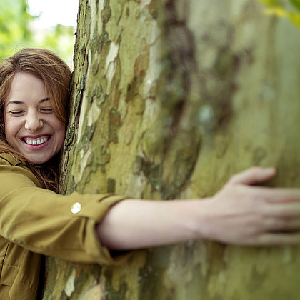
[[[29,159],[29,168],[39,178],[42,185],[47,189],[57,190],[56,174],[59,157],[54,155],[51,158],[50,156],[54,153],[58,154],[58,146],[59,144],[61,146],[64,139],[71,69],[52,51],[23,49],[2,61],[0,81],[2,127],[0,139],[5,141],[0,148],[6,153],[14,154],[15,157],[21,155],[24,159]],[[50,100],[44,101],[45,99]],[[34,105],[35,102],[39,105]],[[56,135],[52,128],[53,122],[51,121],[49,124],[49,119],[53,118],[57,121],[54,122],[55,128],[61,126],[63,129],[59,131],[59,135]],[[9,122],[9,126],[5,126],[4,129],[6,121]],[[32,128],[32,126],[36,128]],[[39,137],[41,144],[46,139],[45,145],[34,146],[34,139]],[[48,144],[55,146],[54,149],[50,150]],[[7,146],[10,147],[7,148]],[[38,148],[42,148],[41,151],[37,151]],[[29,157],[26,156],[27,154]],[[51,160],[46,168],[41,166],[36,169],[34,164],[40,164],[44,160],[44,154],[50,154],[47,157],[48,160],[49,158]]]

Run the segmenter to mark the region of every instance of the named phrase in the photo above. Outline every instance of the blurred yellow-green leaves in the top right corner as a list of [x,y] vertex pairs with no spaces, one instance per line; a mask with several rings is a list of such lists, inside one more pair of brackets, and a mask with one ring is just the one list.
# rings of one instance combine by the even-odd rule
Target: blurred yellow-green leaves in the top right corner
[[258,0],[267,6],[266,14],[285,17],[300,27],[300,0]]

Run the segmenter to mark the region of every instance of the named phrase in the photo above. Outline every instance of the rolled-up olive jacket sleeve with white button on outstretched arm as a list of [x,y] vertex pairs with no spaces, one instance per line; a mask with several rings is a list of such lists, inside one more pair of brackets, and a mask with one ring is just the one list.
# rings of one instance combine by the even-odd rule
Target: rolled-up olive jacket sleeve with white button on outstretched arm
[[41,189],[24,166],[0,158],[0,235],[29,251],[81,263],[119,264],[95,226],[122,196],[59,195]]

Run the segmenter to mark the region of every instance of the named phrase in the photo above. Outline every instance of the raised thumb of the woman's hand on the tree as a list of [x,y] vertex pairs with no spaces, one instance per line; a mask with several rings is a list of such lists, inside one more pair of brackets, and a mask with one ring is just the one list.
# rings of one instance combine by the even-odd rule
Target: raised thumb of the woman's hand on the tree
[[231,184],[256,184],[264,182],[276,175],[275,168],[262,168],[260,166],[253,166],[231,177],[229,182]]

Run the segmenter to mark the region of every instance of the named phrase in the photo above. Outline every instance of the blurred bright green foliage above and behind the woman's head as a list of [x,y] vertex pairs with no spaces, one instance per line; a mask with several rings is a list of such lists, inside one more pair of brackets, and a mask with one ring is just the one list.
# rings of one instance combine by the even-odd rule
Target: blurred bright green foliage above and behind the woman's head
[[49,29],[34,28],[38,17],[29,14],[27,0],[0,1],[0,60],[21,48],[38,46],[56,52],[71,66],[75,29],[60,24]]

